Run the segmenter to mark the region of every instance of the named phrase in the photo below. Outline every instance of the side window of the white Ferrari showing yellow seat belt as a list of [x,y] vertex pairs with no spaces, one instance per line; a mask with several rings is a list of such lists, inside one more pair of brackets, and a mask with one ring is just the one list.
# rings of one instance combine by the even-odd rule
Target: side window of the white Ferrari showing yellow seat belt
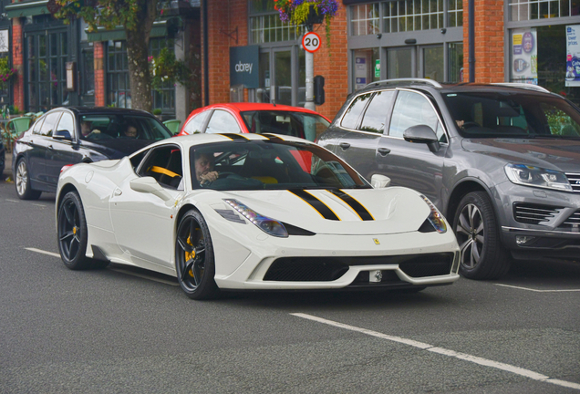
[[176,145],[164,145],[151,150],[140,166],[140,176],[155,178],[161,186],[183,190],[181,150]]

